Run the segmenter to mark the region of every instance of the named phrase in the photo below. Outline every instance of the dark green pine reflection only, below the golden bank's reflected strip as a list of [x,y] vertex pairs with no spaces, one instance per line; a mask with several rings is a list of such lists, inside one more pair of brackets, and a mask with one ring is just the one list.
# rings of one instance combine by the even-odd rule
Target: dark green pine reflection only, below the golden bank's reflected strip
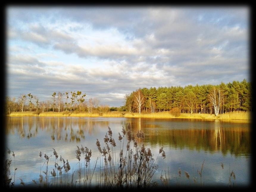
[[145,142],[179,149],[230,152],[235,156],[251,153],[249,130],[237,128],[165,129],[159,132],[149,129]]

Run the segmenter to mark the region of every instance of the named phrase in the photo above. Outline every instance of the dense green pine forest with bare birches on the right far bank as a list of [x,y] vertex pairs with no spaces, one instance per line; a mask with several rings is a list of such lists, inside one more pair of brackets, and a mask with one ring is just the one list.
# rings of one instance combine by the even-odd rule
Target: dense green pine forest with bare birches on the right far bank
[[139,88],[125,96],[125,107],[132,112],[221,113],[252,110],[252,86],[246,79],[219,85],[187,85]]

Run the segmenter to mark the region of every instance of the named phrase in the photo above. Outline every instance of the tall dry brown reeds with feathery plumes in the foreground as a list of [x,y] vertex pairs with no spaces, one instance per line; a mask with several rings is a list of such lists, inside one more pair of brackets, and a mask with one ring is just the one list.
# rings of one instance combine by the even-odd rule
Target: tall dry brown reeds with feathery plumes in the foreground
[[[96,140],[96,146],[98,148],[99,156],[97,157],[94,164],[91,164],[91,156],[92,151],[87,147],[77,146],[75,150],[76,158],[78,160],[78,170],[72,171],[69,165],[68,160],[64,160],[64,158],[53,149],[53,155],[55,157],[54,168],[50,169],[49,159],[52,155],[48,156],[44,154],[45,162],[43,166],[45,166],[45,171],[42,171],[44,174],[41,174],[42,166],[42,153],[39,153],[40,156],[40,175],[38,180],[32,180],[36,187],[45,187],[45,188],[63,188],[63,187],[71,187],[71,188],[155,188],[159,186],[159,183],[156,181],[152,181],[154,173],[157,171],[158,166],[156,165],[157,159],[159,157],[166,158],[166,153],[163,150],[163,147],[159,149],[159,153],[156,159],[153,158],[153,154],[149,148],[146,148],[143,140],[145,138],[144,133],[142,131],[138,131],[136,135],[133,135],[131,132],[130,124],[127,125],[126,128],[123,127],[122,134],[119,133],[118,140],[120,141],[120,148],[116,149],[116,143],[113,138],[112,130],[108,127],[108,131],[106,132],[105,137],[103,138],[103,144],[101,145],[100,141]],[[127,138],[127,144],[124,145],[124,138]],[[119,155],[116,156],[116,150],[119,151]],[[15,187],[14,182],[12,181],[12,177],[10,176],[10,164],[12,159],[10,157],[10,150],[7,150],[8,159],[5,161],[4,166],[4,186],[5,187]],[[15,154],[13,152],[13,157]],[[14,159],[15,160],[15,159]],[[97,163],[99,162],[99,172],[100,174],[95,174]],[[202,163],[201,169],[197,170],[198,177],[195,177],[193,174],[193,183],[194,185],[204,186],[203,182],[203,166],[205,160]],[[14,166],[15,171],[17,170],[16,166]],[[52,168],[52,167],[51,167]],[[221,163],[222,170],[224,169],[223,163]],[[51,171],[52,170],[52,171]],[[83,174],[82,174],[83,170]],[[230,168],[229,168],[230,170]],[[14,171],[14,176],[15,176]],[[184,172],[184,174],[182,174]],[[77,173],[78,179],[74,180],[74,174]],[[223,173],[223,172],[222,172]],[[72,174],[72,179],[70,179]],[[181,171],[181,168],[178,170],[178,176],[180,182],[177,180],[177,185],[181,185],[181,177],[185,177],[191,185],[190,174],[187,171]],[[197,179],[200,177],[200,181]],[[92,180],[95,178],[95,185],[92,185]],[[235,173],[229,171],[229,187],[235,186]],[[25,186],[25,183],[20,178],[20,185]],[[161,171],[160,181],[162,186],[171,187],[170,181],[170,171],[168,167],[168,173],[166,170]],[[183,184],[186,184],[183,183]],[[197,184],[198,183],[198,184]],[[18,186],[18,185],[17,185]]]

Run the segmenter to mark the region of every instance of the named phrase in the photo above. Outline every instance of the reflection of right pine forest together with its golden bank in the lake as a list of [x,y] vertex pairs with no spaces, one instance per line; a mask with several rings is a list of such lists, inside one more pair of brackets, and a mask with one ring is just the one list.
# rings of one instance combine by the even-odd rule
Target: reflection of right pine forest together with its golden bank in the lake
[[[174,149],[221,151],[222,154],[247,155],[251,153],[251,137],[249,127],[244,124],[227,124],[219,120],[198,122],[196,127],[186,129],[171,122],[166,124],[159,119],[127,121],[136,133],[142,130],[146,137],[145,143],[150,146],[169,146]],[[205,127],[202,127],[204,125]],[[247,125],[248,126],[248,125]]]

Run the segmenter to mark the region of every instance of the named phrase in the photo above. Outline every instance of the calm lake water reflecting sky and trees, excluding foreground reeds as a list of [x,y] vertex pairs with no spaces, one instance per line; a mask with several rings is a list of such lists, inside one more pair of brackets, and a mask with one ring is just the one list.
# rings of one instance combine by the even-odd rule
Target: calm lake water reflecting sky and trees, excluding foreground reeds
[[[150,148],[154,158],[160,147],[166,152],[166,158],[157,158],[158,169],[153,180],[159,182],[162,170],[171,178],[170,185],[198,185],[200,176],[197,170],[203,166],[202,181],[204,185],[228,186],[229,173],[235,173],[234,185],[250,185],[251,141],[250,124],[224,121],[203,121],[190,119],[149,119],[149,118],[87,118],[87,117],[7,117],[7,147],[15,153],[18,168],[15,183],[19,178],[25,185],[34,185],[40,174],[39,152],[48,156],[49,170],[54,168],[53,149],[69,161],[71,171],[78,169],[76,159],[77,146],[92,150],[91,164],[99,156],[96,139],[103,144],[108,127],[113,132],[117,144],[116,156],[120,152],[118,132],[122,126],[131,124],[135,134],[142,130],[144,143]],[[124,142],[124,148],[127,142]],[[42,155],[42,157],[43,157]],[[13,159],[13,158],[12,158]],[[44,162],[42,158],[42,162]],[[224,168],[221,167],[223,163]],[[98,163],[97,163],[98,164]],[[14,174],[14,163],[11,170]],[[182,170],[178,176],[179,168]],[[70,172],[71,172],[70,171]],[[96,168],[96,173],[99,168]],[[190,174],[190,179],[184,175]],[[196,184],[193,181],[196,179]],[[233,180],[232,180],[233,182]]]

